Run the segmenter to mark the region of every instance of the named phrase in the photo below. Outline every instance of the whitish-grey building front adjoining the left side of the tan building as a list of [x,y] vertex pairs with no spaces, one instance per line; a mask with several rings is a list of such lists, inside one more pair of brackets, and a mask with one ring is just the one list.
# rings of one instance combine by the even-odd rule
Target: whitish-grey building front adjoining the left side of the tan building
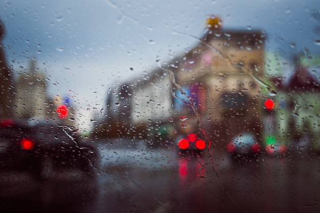
[[154,122],[169,120],[172,103],[167,97],[171,84],[169,76],[158,68],[142,78],[113,85],[94,135],[145,138],[148,126],[153,128]]

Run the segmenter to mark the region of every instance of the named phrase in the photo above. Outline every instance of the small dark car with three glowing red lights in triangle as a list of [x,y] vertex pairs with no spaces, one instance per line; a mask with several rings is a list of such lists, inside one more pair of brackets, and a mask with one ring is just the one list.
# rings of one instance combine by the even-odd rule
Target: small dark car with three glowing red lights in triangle
[[207,147],[205,141],[195,133],[187,134],[185,137],[178,137],[178,153],[179,154],[190,154],[190,155],[201,155]]

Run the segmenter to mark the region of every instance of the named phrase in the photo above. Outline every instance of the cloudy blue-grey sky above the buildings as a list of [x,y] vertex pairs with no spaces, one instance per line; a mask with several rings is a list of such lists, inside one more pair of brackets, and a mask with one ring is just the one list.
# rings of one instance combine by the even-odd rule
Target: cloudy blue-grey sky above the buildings
[[267,51],[287,58],[320,49],[318,0],[4,0],[0,8],[9,64],[20,72],[36,57],[51,95],[70,94],[83,108],[101,107],[112,83],[138,78],[156,59],[193,46],[173,32],[201,37],[210,14],[227,29],[264,30]]

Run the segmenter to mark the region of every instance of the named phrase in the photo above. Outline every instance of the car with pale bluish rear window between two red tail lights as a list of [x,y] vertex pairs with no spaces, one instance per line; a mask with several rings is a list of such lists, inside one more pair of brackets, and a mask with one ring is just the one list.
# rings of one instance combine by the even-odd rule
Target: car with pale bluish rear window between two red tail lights
[[243,133],[235,136],[227,144],[226,150],[235,156],[257,155],[261,151],[261,146],[257,143],[256,137],[251,133]]

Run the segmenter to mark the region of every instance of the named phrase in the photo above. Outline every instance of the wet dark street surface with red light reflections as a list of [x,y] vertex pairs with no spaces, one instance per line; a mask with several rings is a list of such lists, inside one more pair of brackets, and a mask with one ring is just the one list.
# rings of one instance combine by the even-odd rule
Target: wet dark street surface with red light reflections
[[[2,172],[1,212],[318,212],[316,155],[234,159],[101,143],[97,175]],[[191,205],[192,204],[192,205]]]

